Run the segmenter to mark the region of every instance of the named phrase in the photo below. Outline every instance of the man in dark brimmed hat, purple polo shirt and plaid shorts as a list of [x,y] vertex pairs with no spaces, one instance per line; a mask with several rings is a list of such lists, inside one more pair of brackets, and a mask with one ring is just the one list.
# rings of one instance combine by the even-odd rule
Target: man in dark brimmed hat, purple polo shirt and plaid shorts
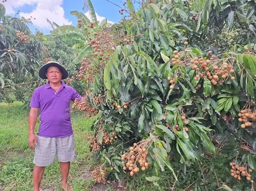
[[[67,178],[70,160],[75,160],[76,154],[69,109],[71,101],[76,98],[81,100],[82,97],[61,81],[68,77],[68,72],[58,62],[48,62],[42,66],[39,76],[49,82],[34,91],[30,102],[28,142],[35,148],[34,191],[40,191],[45,167],[54,163],[56,154],[61,167],[61,188],[64,191],[72,191],[67,184]],[[34,129],[39,109],[40,126],[36,137]]]

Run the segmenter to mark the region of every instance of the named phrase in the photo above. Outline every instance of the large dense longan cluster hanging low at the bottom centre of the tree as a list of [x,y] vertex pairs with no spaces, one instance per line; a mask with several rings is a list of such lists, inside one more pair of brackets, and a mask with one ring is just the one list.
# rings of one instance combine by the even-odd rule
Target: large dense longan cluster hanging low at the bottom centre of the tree
[[149,168],[150,163],[147,160],[149,152],[146,149],[146,143],[134,143],[134,146],[130,147],[129,150],[129,152],[122,155],[122,164],[125,164],[123,170],[129,170],[130,175],[133,176],[134,173],[138,173],[140,171],[138,166],[141,167],[142,171]]

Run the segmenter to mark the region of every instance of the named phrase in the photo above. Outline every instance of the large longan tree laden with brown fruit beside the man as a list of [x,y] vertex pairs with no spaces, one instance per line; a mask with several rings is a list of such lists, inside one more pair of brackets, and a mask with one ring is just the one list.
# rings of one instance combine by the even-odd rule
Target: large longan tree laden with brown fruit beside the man
[[112,27],[119,27],[118,36],[88,25],[94,30],[88,40],[93,52],[79,78],[87,79],[89,91],[87,102],[75,105],[89,116],[99,112],[91,150],[101,159],[104,176],[96,170],[94,179],[102,182],[105,168],[119,179],[153,166],[156,173],[169,169],[177,180],[175,164],[191,167],[203,155],[215,158],[224,144],[230,175],[253,187],[254,44],[201,50],[193,46],[200,35],[194,23],[187,30],[178,23],[191,11],[184,11],[189,1],[141,3],[138,12],[130,0],[124,3],[120,14],[127,12],[130,19]]

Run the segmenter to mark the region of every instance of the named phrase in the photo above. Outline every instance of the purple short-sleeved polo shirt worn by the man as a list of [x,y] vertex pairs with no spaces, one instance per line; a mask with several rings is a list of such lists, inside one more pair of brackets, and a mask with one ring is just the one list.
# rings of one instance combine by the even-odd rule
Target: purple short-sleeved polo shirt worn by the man
[[65,137],[73,135],[70,121],[70,102],[82,97],[72,87],[61,82],[61,88],[55,92],[49,82],[38,87],[31,98],[30,107],[40,109],[38,136]]

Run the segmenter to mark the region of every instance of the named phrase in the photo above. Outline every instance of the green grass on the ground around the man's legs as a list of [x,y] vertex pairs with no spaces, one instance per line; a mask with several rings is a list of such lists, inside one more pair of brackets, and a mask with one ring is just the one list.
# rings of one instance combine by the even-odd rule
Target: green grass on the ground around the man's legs
[[[27,113],[20,109],[22,103],[12,105],[0,104],[0,190],[4,191],[32,191],[33,190],[33,155],[34,150],[28,145]],[[90,126],[92,120],[82,118],[78,113],[71,117],[77,159],[71,162],[69,183],[74,191],[88,191],[94,185],[92,179],[86,179],[89,168],[97,163],[89,152],[89,141],[85,135],[92,135]],[[38,130],[39,120],[36,125]],[[42,188],[61,191],[61,172],[59,162],[45,168],[41,183]]]

